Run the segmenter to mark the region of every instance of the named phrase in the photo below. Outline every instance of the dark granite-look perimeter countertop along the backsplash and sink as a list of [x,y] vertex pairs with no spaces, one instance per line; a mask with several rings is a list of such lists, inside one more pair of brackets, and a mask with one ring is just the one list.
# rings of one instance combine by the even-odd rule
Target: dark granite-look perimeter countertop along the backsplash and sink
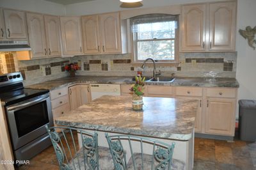
[[[46,81],[26,88],[36,89],[56,89],[64,86],[71,86],[77,83],[91,84],[132,84],[132,77],[106,77],[106,76],[85,76],[76,75],[76,77],[63,77],[54,81]],[[146,82],[148,85],[159,86],[198,86],[198,87],[221,87],[238,88],[239,84],[234,78],[204,78],[204,77],[177,77],[173,82]]]

